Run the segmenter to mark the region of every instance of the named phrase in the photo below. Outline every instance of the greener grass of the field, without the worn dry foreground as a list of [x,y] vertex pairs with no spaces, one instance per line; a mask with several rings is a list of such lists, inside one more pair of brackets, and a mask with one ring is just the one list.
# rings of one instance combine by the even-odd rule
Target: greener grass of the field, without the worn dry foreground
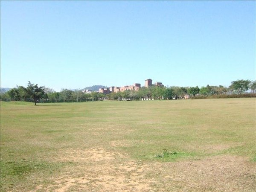
[[40,178],[76,166],[49,158],[61,149],[102,147],[145,162],[221,154],[255,162],[255,116],[255,98],[1,102],[1,191],[32,190]]

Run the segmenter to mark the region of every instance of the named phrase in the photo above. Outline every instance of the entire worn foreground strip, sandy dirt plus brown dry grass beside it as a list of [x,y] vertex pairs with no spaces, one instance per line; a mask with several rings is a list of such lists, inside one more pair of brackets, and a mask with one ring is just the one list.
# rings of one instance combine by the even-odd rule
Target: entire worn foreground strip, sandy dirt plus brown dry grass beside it
[[256,187],[255,163],[244,157],[225,155],[175,163],[143,163],[103,148],[60,152],[57,159],[77,162],[79,173],[52,178],[55,182],[44,190],[244,192],[255,191]]

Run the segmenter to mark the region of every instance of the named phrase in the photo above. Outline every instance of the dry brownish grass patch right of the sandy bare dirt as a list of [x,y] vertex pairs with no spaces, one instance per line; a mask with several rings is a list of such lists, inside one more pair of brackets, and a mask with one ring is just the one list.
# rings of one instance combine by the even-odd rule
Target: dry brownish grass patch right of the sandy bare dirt
[[164,163],[159,166],[160,191],[255,191],[255,163],[237,156]]

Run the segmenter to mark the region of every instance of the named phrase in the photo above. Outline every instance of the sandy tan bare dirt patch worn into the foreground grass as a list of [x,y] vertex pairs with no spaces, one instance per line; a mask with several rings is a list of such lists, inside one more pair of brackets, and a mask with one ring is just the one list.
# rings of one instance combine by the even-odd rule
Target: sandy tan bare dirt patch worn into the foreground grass
[[[61,155],[62,154],[62,155]],[[64,157],[61,157],[63,156]],[[103,148],[60,151],[59,161],[80,162],[79,177],[69,175],[55,179],[47,191],[148,191],[150,180],[141,174],[147,166],[128,160],[124,154],[114,154]],[[75,176],[75,175],[74,175]],[[72,188],[73,187],[73,188]]]

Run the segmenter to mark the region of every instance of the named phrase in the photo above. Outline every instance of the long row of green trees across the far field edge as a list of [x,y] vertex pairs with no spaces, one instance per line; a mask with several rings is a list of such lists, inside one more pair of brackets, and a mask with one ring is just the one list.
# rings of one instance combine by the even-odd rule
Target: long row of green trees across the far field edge
[[183,99],[197,96],[214,96],[224,94],[242,94],[251,90],[256,91],[256,81],[237,80],[232,81],[229,87],[210,86],[196,87],[141,87],[138,91],[125,90],[117,93],[83,93],[82,90],[62,89],[56,92],[48,87],[39,87],[38,84],[32,84],[30,81],[27,87],[17,86],[1,93],[1,101],[26,101],[34,102],[86,102],[98,101],[104,99],[110,100],[145,100],[145,99]]

